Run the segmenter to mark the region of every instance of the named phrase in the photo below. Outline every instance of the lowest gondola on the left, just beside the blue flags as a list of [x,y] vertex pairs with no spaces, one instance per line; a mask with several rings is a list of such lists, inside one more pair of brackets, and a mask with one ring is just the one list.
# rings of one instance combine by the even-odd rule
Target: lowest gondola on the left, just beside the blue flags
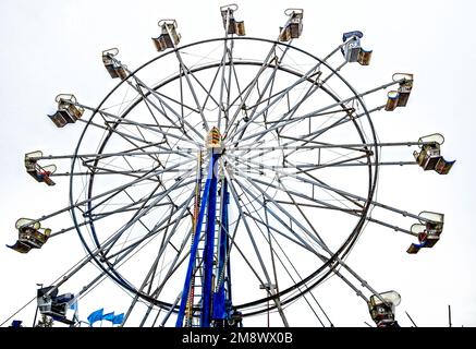
[[76,302],[73,293],[58,296],[58,288],[49,286],[38,289],[38,310],[42,315],[51,316],[54,321],[74,325],[74,312],[70,308]]

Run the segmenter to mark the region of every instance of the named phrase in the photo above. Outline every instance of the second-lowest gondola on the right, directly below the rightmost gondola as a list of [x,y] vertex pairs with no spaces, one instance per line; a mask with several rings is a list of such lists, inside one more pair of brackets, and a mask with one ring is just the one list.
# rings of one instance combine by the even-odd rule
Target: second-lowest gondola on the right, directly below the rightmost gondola
[[443,231],[444,215],[424,210],[419,216],[426,220],[414,224],[411,231],[418,237],[419,243],[412,243],[406,250],[410,254],[416,254],[420,249],[431,249],[439,240]]

